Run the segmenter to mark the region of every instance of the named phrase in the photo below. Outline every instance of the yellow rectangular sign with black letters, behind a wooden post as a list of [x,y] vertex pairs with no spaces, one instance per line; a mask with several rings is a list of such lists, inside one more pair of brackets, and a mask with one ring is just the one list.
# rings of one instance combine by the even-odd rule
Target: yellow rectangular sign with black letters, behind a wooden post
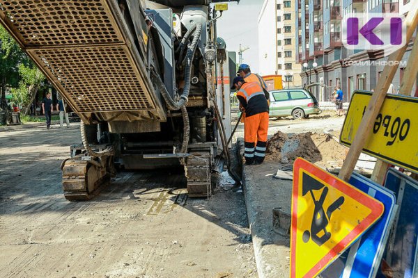
[[[353,143],[371,99],[370,92],[355,92],[348,108],[340,141]],[[418,172],[418,98],[387,95],[372,135],[363,151],[383,161]]]

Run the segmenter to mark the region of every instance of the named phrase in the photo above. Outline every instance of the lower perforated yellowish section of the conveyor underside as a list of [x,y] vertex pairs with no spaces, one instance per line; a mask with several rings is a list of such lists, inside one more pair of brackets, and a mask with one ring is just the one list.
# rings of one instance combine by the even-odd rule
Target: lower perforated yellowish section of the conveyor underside
[[125,46],[33,51],[80,111],[150,110]]

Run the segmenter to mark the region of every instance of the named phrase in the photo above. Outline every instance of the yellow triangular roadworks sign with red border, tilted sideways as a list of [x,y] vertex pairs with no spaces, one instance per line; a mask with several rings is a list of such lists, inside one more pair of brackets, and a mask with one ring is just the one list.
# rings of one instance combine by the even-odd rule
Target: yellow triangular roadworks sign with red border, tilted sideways
[[382,216],[381,202],[297,158],[293,170],[291,278],[316,277]]

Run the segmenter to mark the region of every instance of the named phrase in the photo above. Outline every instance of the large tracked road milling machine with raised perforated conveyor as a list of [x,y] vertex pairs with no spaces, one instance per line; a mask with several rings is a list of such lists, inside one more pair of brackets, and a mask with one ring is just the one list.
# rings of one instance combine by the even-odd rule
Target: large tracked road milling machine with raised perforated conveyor
[[228,58],[212,2],[0,0],[1,24],[82,120],[82,147],[61,165],[66,199],[91,199],[117,168],[169,165],[204,197],[220,151],[230,169]]

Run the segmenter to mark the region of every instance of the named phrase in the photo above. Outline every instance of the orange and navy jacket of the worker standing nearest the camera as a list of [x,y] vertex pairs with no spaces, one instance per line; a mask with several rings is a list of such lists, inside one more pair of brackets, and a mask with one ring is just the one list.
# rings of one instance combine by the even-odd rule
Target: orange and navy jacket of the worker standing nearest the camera
[[237,92],[238,100],[245,108],[245,115],[250,117],[258,113],[268,112],[268,96],[265,95],[261,85],[256,82],[245,82]]

